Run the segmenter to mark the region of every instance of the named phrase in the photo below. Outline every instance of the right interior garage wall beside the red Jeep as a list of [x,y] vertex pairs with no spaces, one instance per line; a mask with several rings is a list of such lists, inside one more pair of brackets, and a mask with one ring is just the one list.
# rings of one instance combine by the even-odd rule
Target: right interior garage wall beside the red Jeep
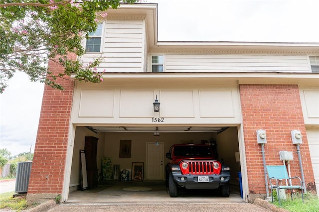
[[236,162],[235,158],[235,152],[239,152],[237,127],[230,127],[218,134],[216,140],[219,158],[224,161],[224,164],[230,166],[230,184],[239,185],[236,178],[240,171],[240,162]]

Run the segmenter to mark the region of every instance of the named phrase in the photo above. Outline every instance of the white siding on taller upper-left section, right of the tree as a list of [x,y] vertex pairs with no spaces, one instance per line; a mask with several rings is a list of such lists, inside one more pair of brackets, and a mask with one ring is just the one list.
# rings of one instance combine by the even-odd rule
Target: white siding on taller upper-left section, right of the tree
[[107,19],[104,27],[103,53],[87,53],[83,64],[92,56],[104,57],[98,71],[143,72],[145,51],[145,24],[143,19]]

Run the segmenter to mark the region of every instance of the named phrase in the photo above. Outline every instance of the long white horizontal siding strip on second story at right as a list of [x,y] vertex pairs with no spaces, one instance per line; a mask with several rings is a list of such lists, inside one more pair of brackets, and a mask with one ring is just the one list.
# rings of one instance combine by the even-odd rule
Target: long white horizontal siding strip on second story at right
[[167,54],[165,72],[310,72],[307,56]]

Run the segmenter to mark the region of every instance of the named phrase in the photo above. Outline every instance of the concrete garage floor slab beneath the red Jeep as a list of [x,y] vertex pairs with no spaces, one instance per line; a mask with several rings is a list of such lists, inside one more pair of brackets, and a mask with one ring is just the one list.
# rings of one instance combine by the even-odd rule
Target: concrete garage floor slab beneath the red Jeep
[[229,198],[218,190],[179,190],[177,198],[169,197],[163,182],[111,183],[69,194],[68,203],[243,203],[237,190]]

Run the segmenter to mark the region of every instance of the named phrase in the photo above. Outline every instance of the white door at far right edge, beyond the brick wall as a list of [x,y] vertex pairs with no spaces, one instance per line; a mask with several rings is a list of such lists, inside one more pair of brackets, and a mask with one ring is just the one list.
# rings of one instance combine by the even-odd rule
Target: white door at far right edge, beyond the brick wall
[[319,197],[319,127],[307,128],[307,137]]

